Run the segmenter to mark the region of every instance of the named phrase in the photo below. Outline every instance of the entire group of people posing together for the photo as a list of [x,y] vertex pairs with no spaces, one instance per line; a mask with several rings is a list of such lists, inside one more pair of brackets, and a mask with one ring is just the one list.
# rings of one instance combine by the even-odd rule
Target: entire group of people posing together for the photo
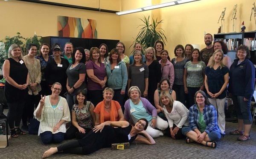
[[246,141],[255,78],[250,51],[239,46],[231,64],[227,45],[212,40],[206,34],[201,51],[179,44],[173,59],[160,40],[145,53],[135,43],[129,58],[122,42],[110,52],[105,43],[90,50],[66,43],[64,52],[59,44],[43,43],[38,56],[33,43],[26,56],[12,44],[3,64],[11,136],[25,135],[34,115],[44,144],[78,139],[50,148],[43,157],[60,151],[89,154],[134,140],[152,145],[164,134],[215,148],[225,135],[229,93],[239,123],[230,134]]

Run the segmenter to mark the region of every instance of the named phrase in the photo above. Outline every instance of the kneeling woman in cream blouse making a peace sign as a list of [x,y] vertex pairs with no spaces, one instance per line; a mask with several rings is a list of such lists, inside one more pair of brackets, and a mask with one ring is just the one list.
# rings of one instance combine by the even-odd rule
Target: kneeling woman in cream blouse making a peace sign
[[70,121],[67,101],[59,96],[61,89],[60,83],[52,84],[52,94],[41,95],[41,100],[34,112],[35,118],[40,121],[38,136],[41,136],[44,144],[62,142],[67,130],[66,123]]

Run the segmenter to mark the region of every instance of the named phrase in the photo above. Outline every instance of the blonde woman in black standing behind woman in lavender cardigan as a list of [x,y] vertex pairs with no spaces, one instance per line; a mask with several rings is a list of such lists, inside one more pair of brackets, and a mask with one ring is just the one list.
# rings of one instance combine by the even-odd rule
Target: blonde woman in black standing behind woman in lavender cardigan
[[145,50],[148,66],[148,101],[154,106],[154,91],[157,89],[161,80],[161,65],[158,63],[156,53],[153,47],[148,47]]

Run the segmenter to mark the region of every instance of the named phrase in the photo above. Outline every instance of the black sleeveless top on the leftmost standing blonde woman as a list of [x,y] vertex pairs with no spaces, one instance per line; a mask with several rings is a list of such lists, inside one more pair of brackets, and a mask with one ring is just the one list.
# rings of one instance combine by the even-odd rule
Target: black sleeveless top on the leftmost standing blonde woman
[[[26,84],[26,78],[28,75],[28,69],[23,60],[19,60],[19,62],[15,61],[13,58],[8,58],[10,62],[10,73],[9,76],[17,83],[17,84]],[[22,62],[20,62],[22,61]],[[22,63],[22,64],[21,64]],[[6,81],[5,84],[5,95],[7,103],[12,103],[14,101],[25,100],[26,95],[28,94],[28,89],[19,90],[16,87],[12,86]]]

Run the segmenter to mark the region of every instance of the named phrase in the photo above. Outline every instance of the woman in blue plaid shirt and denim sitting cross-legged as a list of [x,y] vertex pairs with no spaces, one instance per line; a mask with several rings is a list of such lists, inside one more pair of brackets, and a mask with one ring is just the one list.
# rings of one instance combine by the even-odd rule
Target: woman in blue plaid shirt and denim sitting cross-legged
[[216,148],[217,141],[221,139],[217,111],[202,90],[195,93],[195,103],[189,109],[189,127],[182,128],[183,135],[187,136],[186,143],[198,142]]

